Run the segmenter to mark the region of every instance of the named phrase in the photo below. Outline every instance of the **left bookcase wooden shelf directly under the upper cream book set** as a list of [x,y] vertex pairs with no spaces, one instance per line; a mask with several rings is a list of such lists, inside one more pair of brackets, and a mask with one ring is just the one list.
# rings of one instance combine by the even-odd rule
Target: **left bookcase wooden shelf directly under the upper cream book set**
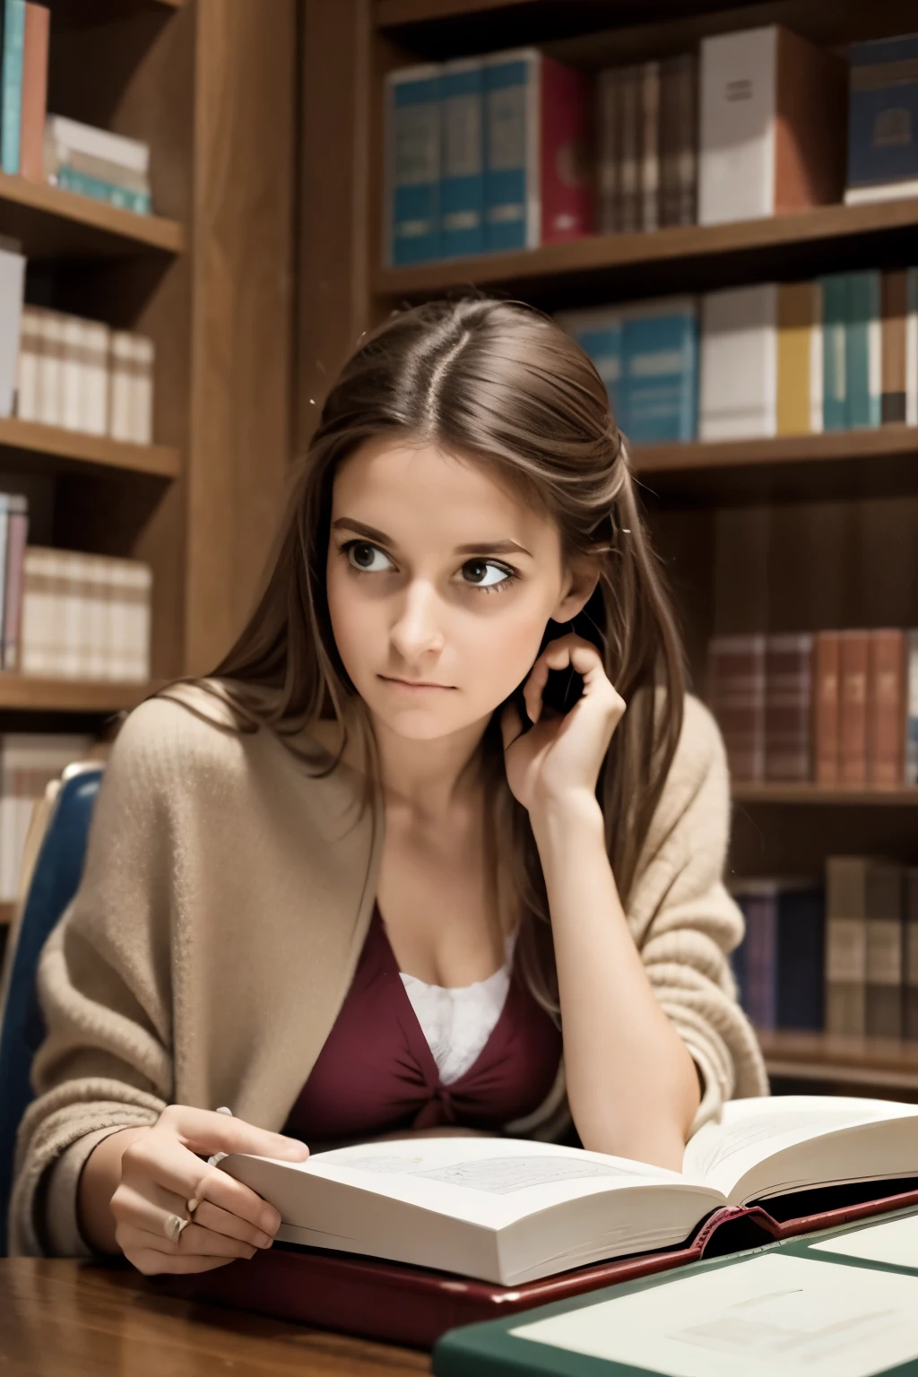
[[59,425],[21,421],[15,416],[0,417],[0,467],[11,463],[19,467],[18,461],[25,459],[34,470],[39,454],[62,461],[55,463],[55,468],[88,465],[165,479],[178,478],[182,465],[179,450],[169,445],[129,445],[106,435],[85,435]]

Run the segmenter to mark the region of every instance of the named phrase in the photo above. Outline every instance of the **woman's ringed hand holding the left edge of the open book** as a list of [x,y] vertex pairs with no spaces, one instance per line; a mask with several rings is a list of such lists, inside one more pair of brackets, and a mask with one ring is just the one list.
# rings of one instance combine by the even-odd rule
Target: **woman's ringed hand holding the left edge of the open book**
[[[114,1238],[138,1271],[211,1271],[235,1257],[253,1257],[274,1242],[281,1216],[242,1181],[201,1161],[215,1153],[253,1153],[288,1162],[310,1155],[306,1143],[245,1120],[169,1104],[125,1147],[110,1201]],[[201,1203],[173,1243],[165,1235],[167,1220],[171,1215],[187,1219],[190,1199]]]

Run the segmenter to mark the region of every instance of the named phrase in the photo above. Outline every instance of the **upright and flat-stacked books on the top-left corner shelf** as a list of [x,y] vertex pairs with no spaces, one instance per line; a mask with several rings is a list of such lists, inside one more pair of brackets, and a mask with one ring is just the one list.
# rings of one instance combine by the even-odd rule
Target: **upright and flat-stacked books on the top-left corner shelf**
[[0,167],[11,176],[150,213],[150,149],[47,113],[51,11],[0,0]]

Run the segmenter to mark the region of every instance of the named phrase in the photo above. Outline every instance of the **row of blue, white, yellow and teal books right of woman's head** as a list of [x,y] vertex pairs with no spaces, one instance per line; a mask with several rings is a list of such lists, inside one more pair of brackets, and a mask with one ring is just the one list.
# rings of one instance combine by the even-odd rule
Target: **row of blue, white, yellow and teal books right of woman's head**
[[834,273],[556,317],[632,443],[918,424],[918,270]]

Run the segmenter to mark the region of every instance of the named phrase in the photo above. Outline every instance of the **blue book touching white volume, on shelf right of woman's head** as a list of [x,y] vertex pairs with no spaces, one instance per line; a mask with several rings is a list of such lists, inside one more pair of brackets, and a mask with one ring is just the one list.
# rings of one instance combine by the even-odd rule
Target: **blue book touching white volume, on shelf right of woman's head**
[[633,445],[698,434],[698,310],[691,297],[622,311],[623,416]]

